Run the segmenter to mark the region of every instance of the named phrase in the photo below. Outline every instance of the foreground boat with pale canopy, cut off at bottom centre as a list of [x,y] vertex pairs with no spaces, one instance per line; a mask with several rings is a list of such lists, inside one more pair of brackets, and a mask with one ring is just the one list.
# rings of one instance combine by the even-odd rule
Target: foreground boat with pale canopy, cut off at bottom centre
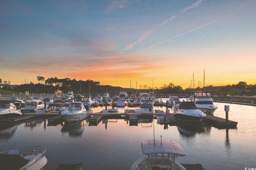
[[141,142],[142,153],[145,155],[136,160],[131,170],[173,169],[186,170],[175,158],[186,156],[179,143],[171,140],[146,140]]

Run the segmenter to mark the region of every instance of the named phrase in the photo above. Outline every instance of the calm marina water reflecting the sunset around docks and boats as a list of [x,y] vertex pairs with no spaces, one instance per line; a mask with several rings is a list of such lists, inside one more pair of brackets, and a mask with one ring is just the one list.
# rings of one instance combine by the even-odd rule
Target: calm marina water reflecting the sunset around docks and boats
[[[225,117],[224,105],[214,115]],[[94,108],[94,112],[103,107]],[[155,107],[165,109],[165,107]],[[230,105],[230,120],[237,129],[217,129],[204,125],[191,130],[164,126],[155,120],[156,138],[180,143],[187,156],[180,163],[202,164],[205,169],[244,169],[256,167],[256,108]],[[58,164],[83,163],[83,169],[130,169],[142,156],[141,141],[153,138],[153,122],[129,126],[125,120],[108,120],[97,126],[86,121],[49,126],[47,120],[35,120],[0,131],[0,150],[28,146],[47,148],[48,163],[44,169]],[[0,167],[1,169],[1,167]]]

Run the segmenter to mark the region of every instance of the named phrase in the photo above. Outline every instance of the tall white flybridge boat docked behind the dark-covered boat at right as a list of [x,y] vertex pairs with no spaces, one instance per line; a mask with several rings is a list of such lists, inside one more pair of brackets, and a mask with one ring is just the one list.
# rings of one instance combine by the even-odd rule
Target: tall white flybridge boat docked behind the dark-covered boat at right
[[218,108],[217,105],[213,104],[213,99],[208,92],[196,92],[195,104],[198,109],[201,109],[206,114],[211,114]]

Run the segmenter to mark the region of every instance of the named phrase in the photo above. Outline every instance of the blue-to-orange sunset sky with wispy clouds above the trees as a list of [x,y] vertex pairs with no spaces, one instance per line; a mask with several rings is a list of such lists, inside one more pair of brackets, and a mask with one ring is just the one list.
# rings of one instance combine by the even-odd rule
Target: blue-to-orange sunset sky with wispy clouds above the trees
[[256,83],[256,1],[0,1],[0,78]]

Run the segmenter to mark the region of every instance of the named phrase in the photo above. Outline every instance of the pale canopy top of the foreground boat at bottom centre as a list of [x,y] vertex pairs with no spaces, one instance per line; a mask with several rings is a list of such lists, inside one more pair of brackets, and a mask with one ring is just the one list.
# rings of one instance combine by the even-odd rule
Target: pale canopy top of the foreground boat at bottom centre
[[145,155],[149,154],[176,154],[178,156],[186,156],[184,150],[179,143],[171,140],[146,140],[141,142],[142,153]]

